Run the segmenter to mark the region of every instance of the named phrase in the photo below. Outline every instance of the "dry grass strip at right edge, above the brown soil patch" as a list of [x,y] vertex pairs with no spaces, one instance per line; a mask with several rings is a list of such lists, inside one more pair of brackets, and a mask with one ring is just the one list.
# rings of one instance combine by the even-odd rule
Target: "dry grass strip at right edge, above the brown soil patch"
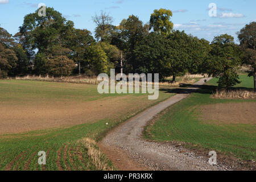
[[254,91],[249,90],[216,90],[213,93],[213,98],[231,98],[231,99],[256,99],[256,93]]

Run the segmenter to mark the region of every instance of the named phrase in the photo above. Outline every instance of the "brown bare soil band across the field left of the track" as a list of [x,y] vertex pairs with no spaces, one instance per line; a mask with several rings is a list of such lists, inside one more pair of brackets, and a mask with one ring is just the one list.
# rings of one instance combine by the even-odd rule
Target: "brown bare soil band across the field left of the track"
[[[104,118],[119,118],[145,106],[126,96],[85,102],[40,102],[30,105],[0,104],[0,134],[22,133],[52,127],[73,126]],[[128,97],[129,98],[129,97]]]

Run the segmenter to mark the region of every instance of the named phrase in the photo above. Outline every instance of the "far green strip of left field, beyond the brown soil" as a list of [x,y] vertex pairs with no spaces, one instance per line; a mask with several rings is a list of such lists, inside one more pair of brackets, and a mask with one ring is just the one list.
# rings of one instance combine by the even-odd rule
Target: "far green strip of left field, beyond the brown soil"
[[[75,100],[94,101],[126,94],[99,94],[97,85],[30,80],[0,80],[0,101]],[[146,94],[130,94],[133,97]],[[162,97],[162,96],[160,96]]]

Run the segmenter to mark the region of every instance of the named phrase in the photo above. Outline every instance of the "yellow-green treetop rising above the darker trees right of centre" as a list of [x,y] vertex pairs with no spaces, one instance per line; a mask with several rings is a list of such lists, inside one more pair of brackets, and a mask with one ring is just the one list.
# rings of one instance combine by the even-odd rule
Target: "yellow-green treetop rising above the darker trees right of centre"
[[150,17],[150,28],[162,35],[171,34],[174,23],[171,22],[172,11],[166,9],[154,10]]

